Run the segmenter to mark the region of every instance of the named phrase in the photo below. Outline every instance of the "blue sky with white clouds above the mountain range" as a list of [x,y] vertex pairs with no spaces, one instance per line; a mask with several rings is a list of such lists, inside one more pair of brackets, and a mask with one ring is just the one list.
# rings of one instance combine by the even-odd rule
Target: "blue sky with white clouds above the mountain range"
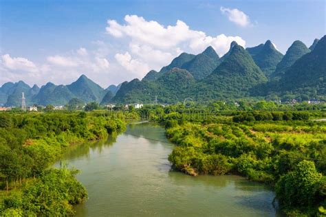
[[268,39],[285,54],[325,35],[325,0],[0,0],[0,85],[69,84],[85,74],[101,87],[143,78],[187,52]]

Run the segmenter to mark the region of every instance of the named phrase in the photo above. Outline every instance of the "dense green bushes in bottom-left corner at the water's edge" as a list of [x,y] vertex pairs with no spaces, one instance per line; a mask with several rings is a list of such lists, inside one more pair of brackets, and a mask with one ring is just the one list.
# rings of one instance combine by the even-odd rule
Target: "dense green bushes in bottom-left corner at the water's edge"
[[67,168],[44,170],[21,192],[4,198],[3,216],[73,216],[72,205],[87,198],[85,187],[75,178],[77,170]]

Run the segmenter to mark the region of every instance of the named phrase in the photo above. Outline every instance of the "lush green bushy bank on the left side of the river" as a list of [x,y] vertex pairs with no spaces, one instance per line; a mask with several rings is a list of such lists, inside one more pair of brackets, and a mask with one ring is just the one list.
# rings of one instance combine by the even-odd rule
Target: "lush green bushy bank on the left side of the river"
[[71,216],[87,198],[78,170],[49,166],[67,146],[102,139],[126,128],[124,115],[107,112],[0,115],[3,216]]

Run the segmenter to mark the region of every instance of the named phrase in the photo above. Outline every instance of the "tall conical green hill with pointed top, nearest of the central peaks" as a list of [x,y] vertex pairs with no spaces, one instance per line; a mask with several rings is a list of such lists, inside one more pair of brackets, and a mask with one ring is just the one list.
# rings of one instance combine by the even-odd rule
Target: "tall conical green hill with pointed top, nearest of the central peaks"
[[196,85],[192,95],[198,101],[241,98],[248,96],[250,88],[266,81],[250,54],[240,45],[234,45],[224,62]]

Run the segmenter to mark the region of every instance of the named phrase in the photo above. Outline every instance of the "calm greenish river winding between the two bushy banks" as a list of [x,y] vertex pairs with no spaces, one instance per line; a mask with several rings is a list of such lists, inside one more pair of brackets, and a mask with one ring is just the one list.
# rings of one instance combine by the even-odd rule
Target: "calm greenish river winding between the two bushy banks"
[[81,170],[89,194],[77,216],[279,216],[269,187],[241,176],[171,172],[172,150],[154,124],[129,124],[116,138],[69,148],[63,160]]

